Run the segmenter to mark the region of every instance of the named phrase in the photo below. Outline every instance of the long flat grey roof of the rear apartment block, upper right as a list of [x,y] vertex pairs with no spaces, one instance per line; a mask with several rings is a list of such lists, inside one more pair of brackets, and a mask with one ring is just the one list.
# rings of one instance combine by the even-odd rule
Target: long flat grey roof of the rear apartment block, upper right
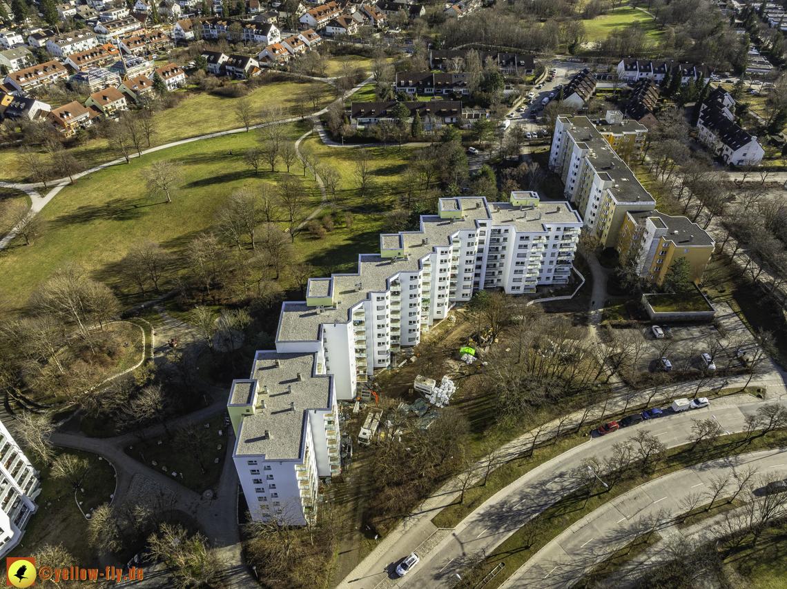
[[[561,116],[564,122],[571,122],[572,127],[567,130],[579,149],[590,149],[587,161],[593,170],[608,182],[615,182],[609,188],[615,201],[618,203],[650,203],[656,205],[656,200],[639,183],[634,172],[621,160],[615,150],[607,142],[596,126],[586,116]],[[644,125],[631,121],[647,131]],[[625,124],[625,123],[624,123]],[[608,125],[609,126],[609,125]],[[623,127],[622,127],[623,128]],[[605,175],[605,176],[604,176]]]

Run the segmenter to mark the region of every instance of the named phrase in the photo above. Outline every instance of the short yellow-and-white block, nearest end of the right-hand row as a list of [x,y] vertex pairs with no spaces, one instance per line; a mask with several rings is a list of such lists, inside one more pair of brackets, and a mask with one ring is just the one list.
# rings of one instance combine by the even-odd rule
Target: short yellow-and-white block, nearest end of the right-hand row
[[700,282],[714,246],[713,237],[687,217],[630,211],[616,249],[623,266],[634,267],[637,275],[663,285],[670,264],[677,258],[689,260],[691,280]]

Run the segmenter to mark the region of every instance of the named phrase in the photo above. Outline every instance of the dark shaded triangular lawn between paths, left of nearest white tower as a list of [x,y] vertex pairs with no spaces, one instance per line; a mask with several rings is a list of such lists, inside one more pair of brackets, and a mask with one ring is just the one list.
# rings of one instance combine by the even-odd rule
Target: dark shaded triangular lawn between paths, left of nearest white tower
[[[219,415],[206,422],[198,422],[196,425],[201,430],[205,424],[210,425],[205,429],[207,433],[203,458],[205,473],[202,473],[194,455],[177,449],[176,444],[169,440],[166,434],[142,443],[136,442],[133,447],[126,448],[125,452],[136,461],[169,477],[172,477],[172,473],[178,473],[177,480],[180,484],[202,493],[219,481],[221,469],[224,466],[224,457],[227,455],[227,429],[224,428],[224,416]],[[221,436],[219,435],[220,430],[224,430]],[[176,432],[172,432],[173,438],[176,435]],[[158,443],[159,441],[161,444]],[[145,457],[144,461],[142,456]],[[216,458],[219,458],[219,462],[214,462]],[[153,462],[156,462],[156,465],[153,465]],[[163,467],[166,467],[166,470]],[[181,477],[181,475],[183,476]]]

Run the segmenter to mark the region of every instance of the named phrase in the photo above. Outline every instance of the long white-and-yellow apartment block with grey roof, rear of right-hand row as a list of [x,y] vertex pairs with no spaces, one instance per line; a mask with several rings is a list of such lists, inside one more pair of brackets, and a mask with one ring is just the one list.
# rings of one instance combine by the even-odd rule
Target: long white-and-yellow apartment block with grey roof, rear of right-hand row
[[604,247],[617,245],[627,212],[656,208],[656,199],[618,155],[637,153],[647,127],[619,117],[610,111],[593,123],[586,116],[560,116],[549,155],[550,169],[565,186],[563,194]]

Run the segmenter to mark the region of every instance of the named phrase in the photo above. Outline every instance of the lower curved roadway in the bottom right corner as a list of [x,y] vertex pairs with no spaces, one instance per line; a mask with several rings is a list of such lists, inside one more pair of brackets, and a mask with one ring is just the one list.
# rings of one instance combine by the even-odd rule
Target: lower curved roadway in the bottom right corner
[[[660,536],[676,531],[669,521],[685,512],[682,500],[708,490],[714,477],[753,466],[767,476],[784,478],[787,457],[784,448],[753,452],[704,462],[651,480],[606,503],[547,544],[501,585],[502,589],[560,589],[571,587],[586,571],[608,558],[615,548],[630,543],[637,535],[640,518],[656,517]],[[725,494],[734,491],[730,485]]]

